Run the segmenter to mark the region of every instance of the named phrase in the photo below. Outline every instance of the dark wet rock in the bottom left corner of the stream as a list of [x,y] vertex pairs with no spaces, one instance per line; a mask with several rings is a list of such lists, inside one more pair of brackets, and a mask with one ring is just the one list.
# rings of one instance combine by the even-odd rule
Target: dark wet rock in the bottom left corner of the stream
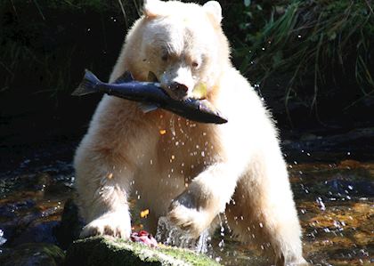
[[65,254],[58,247],[46,243],[28,243],[15,248],[4,248],[0,253],[2,266],[56,266]]

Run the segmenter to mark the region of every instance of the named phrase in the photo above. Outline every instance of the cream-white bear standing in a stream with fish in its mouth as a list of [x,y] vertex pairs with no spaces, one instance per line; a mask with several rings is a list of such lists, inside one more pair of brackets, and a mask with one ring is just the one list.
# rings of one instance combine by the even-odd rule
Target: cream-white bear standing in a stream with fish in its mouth
[[105,95],[77,148],[76,185],[87,225],[81,237],[129,238],[130,193],[149,209],[154,232],[166,215],[191,236],[225,214],[242,241],[256,241],[277,265],[305,263],[301,229],[277,130],[248,81],[232,67],[221,6],[144,1],[110,76],[155,73],[174,98],[207,86],[228,123],[189,121]]

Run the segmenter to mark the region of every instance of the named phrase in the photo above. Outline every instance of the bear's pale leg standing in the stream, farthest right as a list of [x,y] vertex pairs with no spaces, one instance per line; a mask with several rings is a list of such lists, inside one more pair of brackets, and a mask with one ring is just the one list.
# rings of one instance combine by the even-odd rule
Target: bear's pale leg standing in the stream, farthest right
[[266,160],[240,178],[225,212],[229,228],[242,242],[256,243],[277,266],[307,265],[286,167],[281,159],[265,167]]

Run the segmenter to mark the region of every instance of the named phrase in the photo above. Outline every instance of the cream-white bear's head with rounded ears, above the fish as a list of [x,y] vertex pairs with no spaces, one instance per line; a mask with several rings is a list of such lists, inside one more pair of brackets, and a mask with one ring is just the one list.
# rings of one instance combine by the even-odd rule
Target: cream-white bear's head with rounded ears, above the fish
[[126,38],[128,70],[140,79],[153,72],[175,99],[191,97],[197,85],[205,85],[209,95],[231,64],[221,20],[215,1],[201,6],[145,0],[143,16]]

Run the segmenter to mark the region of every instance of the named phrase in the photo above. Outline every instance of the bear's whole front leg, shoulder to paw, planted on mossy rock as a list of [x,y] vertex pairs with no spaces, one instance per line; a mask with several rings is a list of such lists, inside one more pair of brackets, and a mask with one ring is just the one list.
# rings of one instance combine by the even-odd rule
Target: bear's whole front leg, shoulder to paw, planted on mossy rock
[[104,96],[74,161],[78,205],[88,222],[81,237],[129,238],[131,182],[158,138],[150,120],[133,102]]

